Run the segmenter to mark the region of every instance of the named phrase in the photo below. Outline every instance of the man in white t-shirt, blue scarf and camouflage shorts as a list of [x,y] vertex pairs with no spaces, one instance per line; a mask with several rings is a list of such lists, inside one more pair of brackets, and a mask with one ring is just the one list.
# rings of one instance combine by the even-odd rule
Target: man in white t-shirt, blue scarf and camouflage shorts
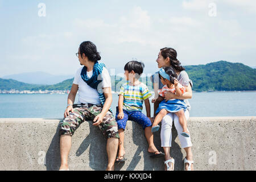
[[[111,80],[108,70],[92,42],[82,42],[78,53],[81,67],[75,75],[64,119],[60,123],[60,170],[68,169],[68,154],[71,149],[71,137],[82,122],[93,121],[107,140],[108,167],[114,170],[115,156],[118,148],[118,129],[110,105],[112,103]],[[73,105],[79,90],[78,104]]]

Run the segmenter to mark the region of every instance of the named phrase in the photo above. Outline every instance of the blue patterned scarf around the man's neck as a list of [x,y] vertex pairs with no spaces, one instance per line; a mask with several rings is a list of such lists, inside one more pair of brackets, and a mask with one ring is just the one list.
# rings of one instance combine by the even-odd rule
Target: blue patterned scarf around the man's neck
[[[97,61],[93,66],[93,75],[90,78],[88,78],[88,76],[86,75],[87,68],[85,66],[84,66],[84,68],[82,68],[82,71],[81,71],[82,80],[84,80],[86,82],[86,84],[88,84],[93,89],[97,89],[98,94],[100,96],[100,101],[101,101],[102,107],[104,106],[106,98],[105,98],[102,88],[98,89],[98,84],[100,84],[100,82],[102,81],[102,78],[98,77],[98,75],[100,75],[102,73],[102,70],[104,67],[106,67],[104,63],[98,63],[98,61]],[[112,112],[111,108],[109,108],[109,110]]]

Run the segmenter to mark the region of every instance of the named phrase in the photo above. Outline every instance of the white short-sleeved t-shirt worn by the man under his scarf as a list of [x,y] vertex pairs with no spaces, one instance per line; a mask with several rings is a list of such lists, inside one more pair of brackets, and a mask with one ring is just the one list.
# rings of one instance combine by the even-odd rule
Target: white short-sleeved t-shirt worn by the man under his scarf
[[[100,101],[100,96],[98,95],[98,91],[97,89],[93,89],[92,87],[90,87],[88,84],[86,84],[86,82],[84,80],[82,80],[81,77],[81,71],[82,68],[79,68],[76,72],[73,84],[76,84],[79,86],[79,100],[78,100],[78,104],[84,103],[84,104],[101,104]],[[88,78],[92,77],[93,75],[93,71],[91,72],[86,72]],[[102,82],[100,84],[102,84],[102,88],[106,88],[106,87],[111,87],[111,79],[109,76],[109,72],[108,69],[106,69],[105,67],[102,69]]]

